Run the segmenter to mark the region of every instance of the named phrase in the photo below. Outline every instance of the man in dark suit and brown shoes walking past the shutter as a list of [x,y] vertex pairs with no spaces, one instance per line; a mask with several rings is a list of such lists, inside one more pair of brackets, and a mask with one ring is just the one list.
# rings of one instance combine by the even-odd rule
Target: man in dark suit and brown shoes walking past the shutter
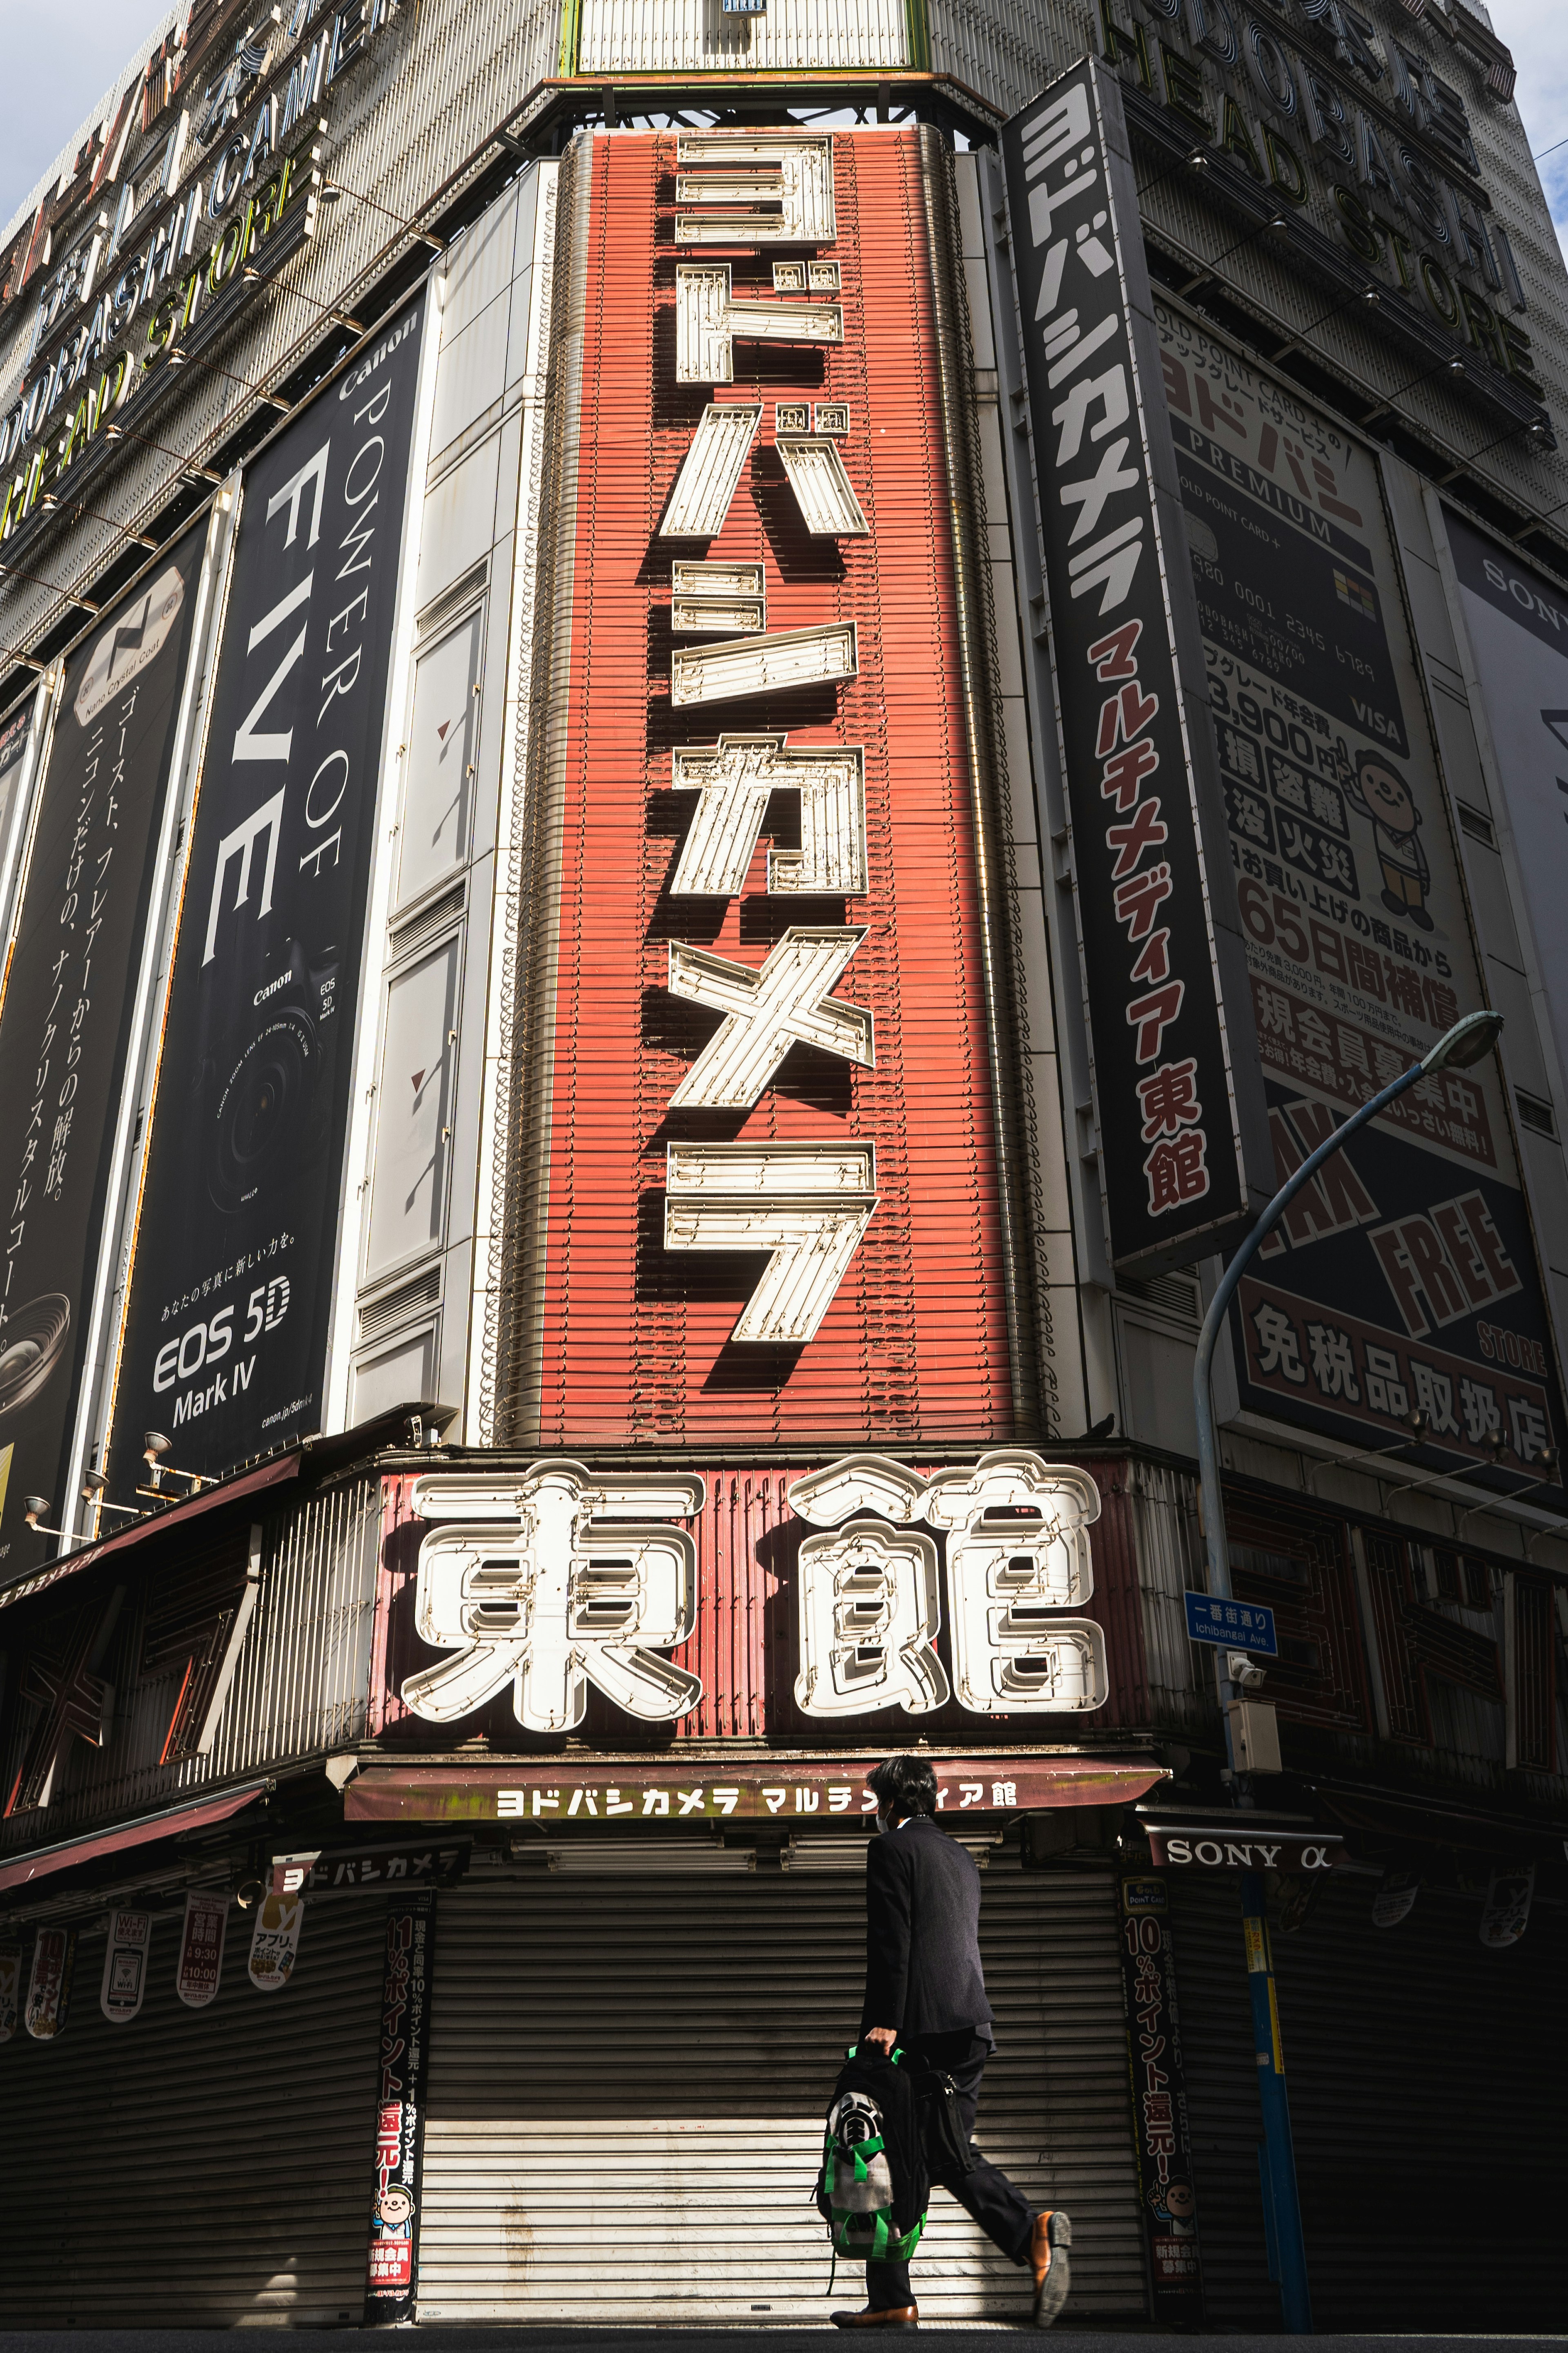
[[[924,1758],[891,1758],[867,1777],[877,1828],[865,1857],[865,2009],[860,2042],[900,2045],[950,2075],[971,2169],[940,2177],[1006,2257],[1034,2273],[1034,2325],[1051,2327],[1070,2287],[1072,2224],[1034,2214],[1009,2177],[973,2146],[980,2075],[992,2052],[992,2007],[980,1967],[980,1871],[936,1821],[936,1774]],[[865,2311],[835,2313],[839,2329],[914,2327],[907,2264],[865,2266]]]

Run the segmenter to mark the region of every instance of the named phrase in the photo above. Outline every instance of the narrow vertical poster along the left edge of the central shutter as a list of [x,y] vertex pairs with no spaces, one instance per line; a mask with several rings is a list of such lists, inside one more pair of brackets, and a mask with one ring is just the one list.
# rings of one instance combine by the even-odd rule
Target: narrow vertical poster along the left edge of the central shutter
[[388,1906],[376,2080],[376,2188],[364,2275],[364,2322],[409,2320],[418,2285],[418,2198],[425,2148],[435,1897]]

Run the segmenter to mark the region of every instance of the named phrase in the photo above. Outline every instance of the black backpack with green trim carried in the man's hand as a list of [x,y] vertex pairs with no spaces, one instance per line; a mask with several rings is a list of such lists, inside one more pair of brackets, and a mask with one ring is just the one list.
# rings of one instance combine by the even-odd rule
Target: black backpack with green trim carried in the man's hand
[[816,2207],[832,2252],[856,2264],[903,2264],[926,2226],[931,2177],[907,2068],[884,2052],[849,2052],[827,2101]]

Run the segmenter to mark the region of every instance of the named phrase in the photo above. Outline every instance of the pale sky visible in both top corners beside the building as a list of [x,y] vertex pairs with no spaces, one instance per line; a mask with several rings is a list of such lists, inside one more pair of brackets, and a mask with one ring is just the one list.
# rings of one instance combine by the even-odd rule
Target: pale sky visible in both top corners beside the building
[[[0,226],[162,12],[160,0],[0,0],[0,56],[12,92],[0,141]],[[1568,146],[1542,153],[1568,141],[1568,9],[1563,0],[1493,0],[1493,24],[1519,66],[1519,111],[1568,252]]]

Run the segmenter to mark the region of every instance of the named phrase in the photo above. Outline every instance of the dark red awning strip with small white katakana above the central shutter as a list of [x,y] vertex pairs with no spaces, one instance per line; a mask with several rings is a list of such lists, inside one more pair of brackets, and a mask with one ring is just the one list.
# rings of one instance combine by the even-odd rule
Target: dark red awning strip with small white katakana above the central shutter
[[[348,1821],[797,1821],[872,1814],[872,1758],[494,1758],[371,1765],[343,1791]],[[1131,1805],[1166,1767],[1154,1758],[933,1755],[943,1814],[1048,1805]]]

